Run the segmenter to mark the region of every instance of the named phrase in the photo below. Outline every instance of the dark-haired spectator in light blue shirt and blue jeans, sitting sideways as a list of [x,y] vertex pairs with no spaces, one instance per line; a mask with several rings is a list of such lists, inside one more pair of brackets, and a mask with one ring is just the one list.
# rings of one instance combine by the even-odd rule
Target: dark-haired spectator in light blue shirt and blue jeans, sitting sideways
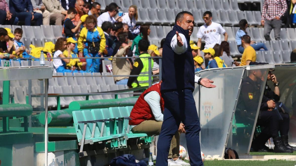
[[[244,47],[242,46],[242,36],[247,35],[247,31],[246,31],[247,27],[248,27],[248,22],[246,19],[242,19],[239,21],[239,30],[235,35],[235,40],[237,41],[237,48],[239,50],[239,53],[244,52]],[[255,41],[251,40],[251,46],[256,51],[259,51],[260,49],[263,49],[264,51],[268,51],[264,43],[255,43]]]

